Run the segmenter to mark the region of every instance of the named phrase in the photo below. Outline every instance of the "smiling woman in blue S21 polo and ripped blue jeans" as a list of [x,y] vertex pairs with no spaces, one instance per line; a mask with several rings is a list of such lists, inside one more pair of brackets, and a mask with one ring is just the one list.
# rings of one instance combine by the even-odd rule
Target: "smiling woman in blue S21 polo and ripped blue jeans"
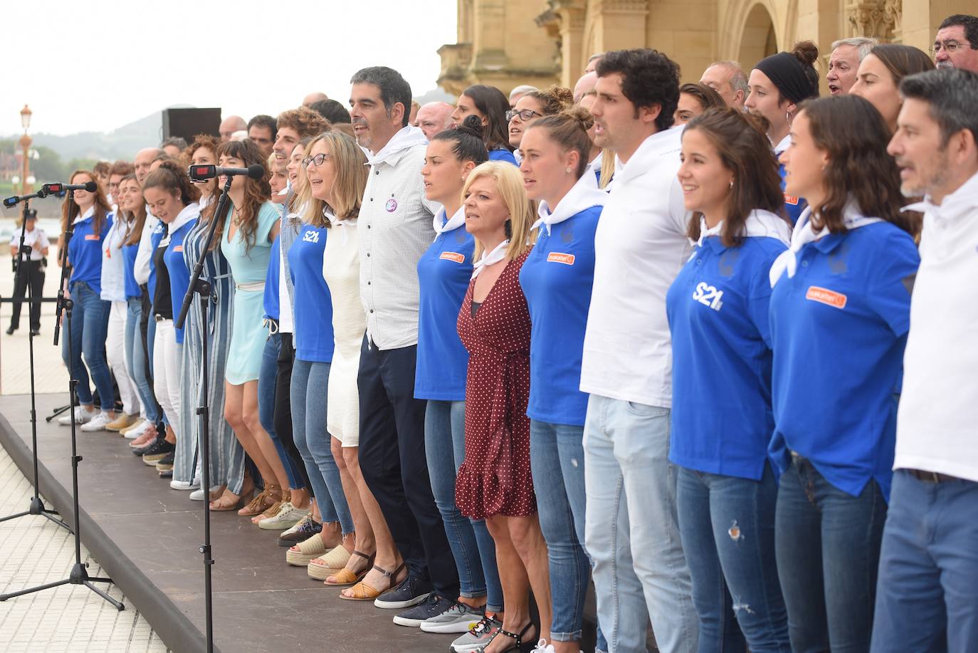
[[696,245],[666,295],[669,460],[703,651],[790,650],[774,564],[768,270],[791,231],[765,127],[735,109],[694,117],[678,171]]

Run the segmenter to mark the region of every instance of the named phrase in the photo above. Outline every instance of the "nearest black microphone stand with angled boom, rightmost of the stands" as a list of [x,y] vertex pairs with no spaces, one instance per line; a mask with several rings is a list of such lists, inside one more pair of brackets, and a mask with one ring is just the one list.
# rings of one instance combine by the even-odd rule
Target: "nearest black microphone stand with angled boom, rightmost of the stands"
[[214,650],[214,607],[213,592],[211,588],[210,571],[214,566],[214,559],[211,557],[210,546],[210,505],[206,499],[210,498],[210,406],[207,405],[207,304],[211,301],[211,285],[206,279],[201,279],[203,272],[203,260],[210,251],[210,244],[214,240],[214,231],[217,228],[217,221],[221,219],[228,204],[228,193],[231,191],[231,181],[233,177],[227,176],[221,195],[217,199],[217,207],[214,210],[210,224],[207,226],[207,236],[200,251],[200,257],[194,264],[194,271],[191,273],[190,286],[187,294],[184,295],[184,303],[180,308],[174,326],[182,329],[184,321],[187,319],[187,311],[194,300],[194,294],[200,296],[200,350],[202,351],[200,360],[200,395],[198,396],[197,414],[200,415],[200,467],[203,478],[200,480],[200,488],[204,492],[203,501],[203,544],[198,549],[203,554],[203,601],[204,601],[204,637],[206,653],[213,653]]

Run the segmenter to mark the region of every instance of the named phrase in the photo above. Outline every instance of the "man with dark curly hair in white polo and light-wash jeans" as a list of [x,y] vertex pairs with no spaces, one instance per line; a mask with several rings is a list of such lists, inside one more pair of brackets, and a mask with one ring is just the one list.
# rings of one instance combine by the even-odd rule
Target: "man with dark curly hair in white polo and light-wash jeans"
[[689,214],[676,173],[679,67],[654,50],[598,65],[595,143],[617,155],[595,236],[584,339],[585,546],[609,653],[645,651],[651,618],[665,652],[696,650],[698,625],[669,463],[672,344],[666,291],[689,258]]

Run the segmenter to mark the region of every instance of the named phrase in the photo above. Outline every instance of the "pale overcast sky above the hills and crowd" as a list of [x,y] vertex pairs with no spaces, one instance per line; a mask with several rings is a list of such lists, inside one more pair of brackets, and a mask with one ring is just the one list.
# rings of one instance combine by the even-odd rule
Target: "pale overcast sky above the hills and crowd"
[[455,0],[4,0],[0,134],[22,132],[24,104],[30,131],[53,134],[111,131],[172,105],[276,116],[311,91],[345,105],[367,66],[399,70],[421,95],[435,87],[435,51],[456,41],[456,12]]

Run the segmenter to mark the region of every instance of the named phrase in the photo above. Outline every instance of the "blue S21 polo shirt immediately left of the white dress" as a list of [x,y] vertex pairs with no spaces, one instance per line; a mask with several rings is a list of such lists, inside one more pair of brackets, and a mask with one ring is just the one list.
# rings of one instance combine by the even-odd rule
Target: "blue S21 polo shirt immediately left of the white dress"
[[333,361],[333,298],[323,278],[323,252],[330,230],[303,224],[289,248],[289,276],[294,286],[295,357]]

